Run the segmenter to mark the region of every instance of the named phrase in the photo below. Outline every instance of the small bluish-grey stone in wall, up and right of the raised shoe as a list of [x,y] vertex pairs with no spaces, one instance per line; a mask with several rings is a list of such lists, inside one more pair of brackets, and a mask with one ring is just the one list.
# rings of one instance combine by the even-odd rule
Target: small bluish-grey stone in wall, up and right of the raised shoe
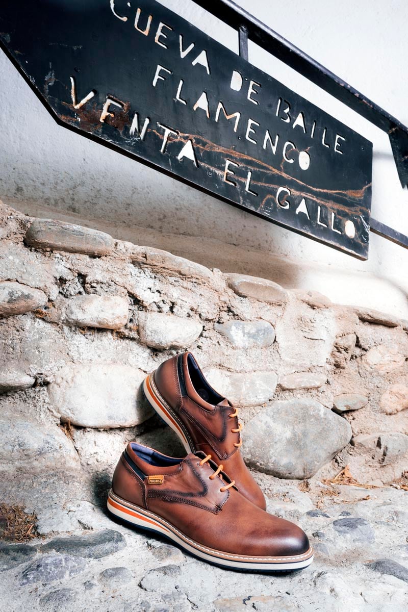
[[275,340],[275,330],[267,321],[227,321],[216,323],[217,332],[237,348],[251,348],[251,346],[270,346]]

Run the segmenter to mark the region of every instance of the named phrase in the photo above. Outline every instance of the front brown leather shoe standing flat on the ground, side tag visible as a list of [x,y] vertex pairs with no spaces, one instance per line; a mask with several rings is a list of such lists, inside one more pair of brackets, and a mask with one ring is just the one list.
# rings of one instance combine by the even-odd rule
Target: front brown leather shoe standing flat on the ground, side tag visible
[[313,561],[302,529],[254,506],[203,452],[177,459],[129,442],[108,510],[224,568],[287,572]]

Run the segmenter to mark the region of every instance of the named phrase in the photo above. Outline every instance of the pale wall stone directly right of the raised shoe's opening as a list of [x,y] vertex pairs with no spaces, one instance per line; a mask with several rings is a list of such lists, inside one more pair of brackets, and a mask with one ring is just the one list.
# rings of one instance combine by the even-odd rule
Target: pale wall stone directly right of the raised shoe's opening
[[261,406],[275,394],[278,377],[274,372],[234,373],[204,368],[210,385],[237,406]]

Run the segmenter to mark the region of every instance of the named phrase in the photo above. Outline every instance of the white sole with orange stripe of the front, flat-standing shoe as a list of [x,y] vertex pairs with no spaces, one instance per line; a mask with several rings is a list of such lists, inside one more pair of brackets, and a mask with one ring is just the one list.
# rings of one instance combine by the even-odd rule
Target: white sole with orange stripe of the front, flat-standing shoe
[[132,523],[139,529],[147,529],[148,531],[163,535],[188,553],[203,561],[220,565],[225,569],[267,573],[290,572],[291,570],[300,570],[308,567],[313,561],[313,550],[311,548],[306,553],[290,557],[251,557],[224,553],[220,550],[205,547],[187,537],[174,525],[154,512],[130,504],[130,502],[119,498],[112,490],[108,494],[107,506],[109,512],[116,517]]

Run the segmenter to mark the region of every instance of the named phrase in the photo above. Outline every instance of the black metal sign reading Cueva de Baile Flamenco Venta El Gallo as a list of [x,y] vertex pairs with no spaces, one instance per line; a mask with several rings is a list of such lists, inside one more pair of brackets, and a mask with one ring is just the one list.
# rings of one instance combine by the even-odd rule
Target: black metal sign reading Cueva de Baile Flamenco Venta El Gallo
[[154,0],[4,0],[0,32],[57,121],[367,258],[372,144],[176,13]]

